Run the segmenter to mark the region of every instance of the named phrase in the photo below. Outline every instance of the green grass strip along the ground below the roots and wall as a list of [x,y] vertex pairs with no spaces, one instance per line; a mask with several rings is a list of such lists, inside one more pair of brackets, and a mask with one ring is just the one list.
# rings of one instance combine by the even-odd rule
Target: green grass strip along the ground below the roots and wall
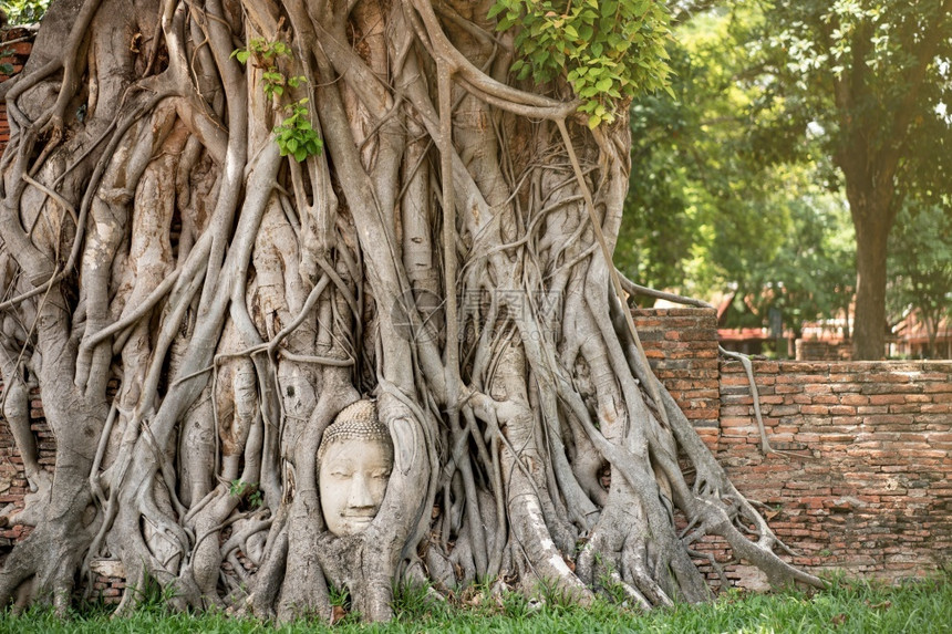
[[677,605],[639,614],[600,601],[589,609],[561,602],[535,603],[521,595],[493,597],[470,591],[453,604],[430,599],[425,590],[400,589],[395,617],[383,625],[361,625],[353,615],[334,627],[299,622],[283,627],[223,614],[174,614],[149,604],[128,619],[111,620],[102,609],[91,609],[60,620],[50,612],[32,610],[15,616],[0,613],[0,633],[205,634],[351,632],[483,633],[483,632],[952,632],[952,575],[887,586],[871,582],[835,580],[816,593],[784,591],[774,594],[731,592],[700,606]]

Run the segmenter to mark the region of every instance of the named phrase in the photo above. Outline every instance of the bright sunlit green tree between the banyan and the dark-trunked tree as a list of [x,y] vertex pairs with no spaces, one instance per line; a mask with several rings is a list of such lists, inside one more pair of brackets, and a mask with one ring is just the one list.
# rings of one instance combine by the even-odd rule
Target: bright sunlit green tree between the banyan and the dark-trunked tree
[[[632,105],[632,181],[619,266],[643,283],[712,298],[734,292],[746,321],[787,328],[846,314],[855,242],[839,179],[815,136],[763,131],[746,44],[762,14],[711,9],[669,44],[674,96]],[[739,314],[739,313],[738,313]],[[846,333],[847,335],[849,333]]]

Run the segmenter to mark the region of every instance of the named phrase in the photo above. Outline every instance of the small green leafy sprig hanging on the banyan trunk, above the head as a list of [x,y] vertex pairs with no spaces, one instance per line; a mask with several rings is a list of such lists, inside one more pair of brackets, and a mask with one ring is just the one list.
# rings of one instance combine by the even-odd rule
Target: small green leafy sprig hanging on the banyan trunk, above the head
[[[261,38],[255,38],[248,42],[247,49],[236,49],[231,56],[241,64],[248,61],[262,69],[261,90],[269,100],[280,98],[284,94],[284,86],[297,89],[307,83],[303,75],[287,76],[279,69],[279,61],[291,54],[291,48],[281,41],[268,42]],[[283,106],[284,119],[276,125],[271,132],[275,141],[281,148],[281,156],[292,156],[301,163],[309,156],[321,153],[323,142],[313,128],[308,112],[308,100],[301,98],[294,103]]]

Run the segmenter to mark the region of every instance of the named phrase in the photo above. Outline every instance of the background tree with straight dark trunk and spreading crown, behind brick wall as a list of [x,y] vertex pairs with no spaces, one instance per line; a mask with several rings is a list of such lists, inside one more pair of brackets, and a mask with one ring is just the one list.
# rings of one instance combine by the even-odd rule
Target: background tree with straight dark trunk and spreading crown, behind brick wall
[[[807,125],[842,174],[856,229],[853,357],[884,353],[887,248],[910,193],[948,190],[952,3],[763,2],[748,46],[777,147]],[[753,77],[752,77],[753,79]]]

